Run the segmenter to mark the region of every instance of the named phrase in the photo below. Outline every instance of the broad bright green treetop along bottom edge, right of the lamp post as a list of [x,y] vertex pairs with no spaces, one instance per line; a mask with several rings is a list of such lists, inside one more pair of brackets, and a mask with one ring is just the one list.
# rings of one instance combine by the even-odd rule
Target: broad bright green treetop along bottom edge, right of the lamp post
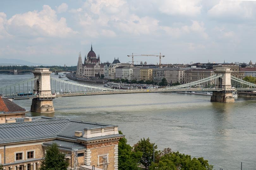
[[158,163],[153,163],[149,170],[212,170],[213,166],[209,165],[203,157],[191,158],[190,155],[179,152],[166,153],[160,157]]

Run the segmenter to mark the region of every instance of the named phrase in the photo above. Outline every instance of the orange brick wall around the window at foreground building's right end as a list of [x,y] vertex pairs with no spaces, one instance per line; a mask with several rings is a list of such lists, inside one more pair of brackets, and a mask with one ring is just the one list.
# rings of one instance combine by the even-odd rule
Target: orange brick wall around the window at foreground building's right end
[[[91,165],[95,165],[95,167],[102,169],[102,162],[100,160],[100,164],[98,165],[98,156],[100,155],[107,155],[108,154],[108,170],[114,170],[114,147],[115,145],[111,146],[104,146],[100,148],[92,148],[91,149]],[[102,157],[102,156],[100,156]]]

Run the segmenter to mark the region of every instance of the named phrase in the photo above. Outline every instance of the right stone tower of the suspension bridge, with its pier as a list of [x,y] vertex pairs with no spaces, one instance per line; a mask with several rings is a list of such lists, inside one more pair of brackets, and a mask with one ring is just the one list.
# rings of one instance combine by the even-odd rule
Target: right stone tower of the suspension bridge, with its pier
[[222,88],[222,91],[213,91],[211,96],[211,101],[224,102],[224,103],[234,103],[235,99],[232,95],[234,89],[231,87],[231,69],[230,68],[216,68],[214,71],[217,75],[223,74],[220,77],[217,88]]

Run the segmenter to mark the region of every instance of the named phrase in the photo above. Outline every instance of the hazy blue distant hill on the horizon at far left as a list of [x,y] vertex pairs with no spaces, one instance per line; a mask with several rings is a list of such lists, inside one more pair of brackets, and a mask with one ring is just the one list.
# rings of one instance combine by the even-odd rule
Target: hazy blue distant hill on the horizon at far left
[[29,61],[25,60],[19,60],[19,59],[7,59],[7,58],[0,58],[0,65],[28,65],[28,66],[37,66],[37,65],[42,65],[42,66],[51,66],[48,64],[42,64],[42,63],[31,63]]

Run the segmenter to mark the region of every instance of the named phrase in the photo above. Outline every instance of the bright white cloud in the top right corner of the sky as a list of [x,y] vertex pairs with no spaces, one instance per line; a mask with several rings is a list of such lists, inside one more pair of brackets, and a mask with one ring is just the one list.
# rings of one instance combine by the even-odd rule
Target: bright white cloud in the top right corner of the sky
[[256,2],[220,0],[213,6],[208,15],[215,18],[253,18],[255,15]]

